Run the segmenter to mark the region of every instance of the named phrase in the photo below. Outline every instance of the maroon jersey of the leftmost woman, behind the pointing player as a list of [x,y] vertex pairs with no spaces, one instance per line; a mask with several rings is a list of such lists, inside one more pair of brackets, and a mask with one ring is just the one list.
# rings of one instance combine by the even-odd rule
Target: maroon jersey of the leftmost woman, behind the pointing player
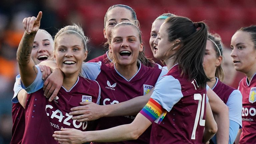
[[21,144],[25,130],[25,109],[18,103],[12,103],[12,140],[10,144]]

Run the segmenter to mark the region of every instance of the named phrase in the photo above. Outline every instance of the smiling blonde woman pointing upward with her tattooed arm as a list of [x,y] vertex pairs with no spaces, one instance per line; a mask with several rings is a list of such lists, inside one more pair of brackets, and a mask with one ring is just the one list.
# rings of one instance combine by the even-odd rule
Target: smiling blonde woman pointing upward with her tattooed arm
[[26,100],[20,102],[25,105],[26,117],[22,143],[57,144],[51,135],[60,128],[69,127],[81,131],[90,129],[90,123],[76,122],[68,112],[83,99],[98,102],[100,88],[96,81],[79,76],[83,60],[87,56],[88,38],[79,26],[66,26],[60,29],[54,39],[54,58],[64,73],[63,85],[54,101],[48,101],[44,96],[42,72],[30,58],[32,45],[37,48],[37,43],[33,41],[40,27],[41,17],[42,12],[39,12],[37,18],[28,17],[23,20],[26,31],[17,50],[21,87],[28,93]]

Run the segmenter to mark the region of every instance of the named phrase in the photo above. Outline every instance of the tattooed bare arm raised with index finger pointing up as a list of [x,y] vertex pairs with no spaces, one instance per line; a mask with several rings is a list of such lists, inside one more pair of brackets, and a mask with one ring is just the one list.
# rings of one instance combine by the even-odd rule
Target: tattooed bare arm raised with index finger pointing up
[[31,51],[35,35],[40,27],[42,12],[37,17],[28,17],[23,20],[25,32],[17,50],[17,62],[19,66],[20,77],[25,87],[29,86],[37,76],[37,68],[31,59]]

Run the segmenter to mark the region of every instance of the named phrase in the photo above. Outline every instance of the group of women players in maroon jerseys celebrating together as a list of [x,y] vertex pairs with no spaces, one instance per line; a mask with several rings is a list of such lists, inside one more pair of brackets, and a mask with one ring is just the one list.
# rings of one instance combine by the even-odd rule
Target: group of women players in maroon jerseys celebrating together
[[53,39],[41,18],[22,22],[11,144],[256,143],[256,26],[231,39],[235,69],[246,75],[235,89],[222,83],[223,44],[204,22],[155,19],[149,44],[161,66],[145,57],[129,6],[107,10],[108,51],[86,63],[83,29],[68,25]]

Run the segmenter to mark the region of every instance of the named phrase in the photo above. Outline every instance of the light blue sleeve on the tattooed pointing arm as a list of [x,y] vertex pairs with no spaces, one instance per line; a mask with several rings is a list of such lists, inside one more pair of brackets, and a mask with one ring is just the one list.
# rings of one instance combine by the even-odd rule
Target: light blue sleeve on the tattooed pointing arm
[[32,84],[30,84],[28,87],[25,87],[21,82],[21,87],[24,90],[26,90],[28,94],[38,91],[44,85],[44,81],[42,80],[42,72],[40,71],[40,68],[37,65],[36,65],[36,68],[37,68],[37,76]]

